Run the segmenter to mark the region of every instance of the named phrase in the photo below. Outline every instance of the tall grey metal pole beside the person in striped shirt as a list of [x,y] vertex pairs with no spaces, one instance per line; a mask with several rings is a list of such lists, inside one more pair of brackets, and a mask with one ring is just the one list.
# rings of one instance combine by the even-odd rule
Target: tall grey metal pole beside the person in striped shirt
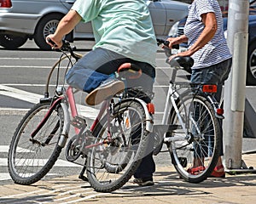
[[230,0],[228,45],[233,55],[232,71],[224,87],[224,166],[241,169],[248,38],[248,0]]

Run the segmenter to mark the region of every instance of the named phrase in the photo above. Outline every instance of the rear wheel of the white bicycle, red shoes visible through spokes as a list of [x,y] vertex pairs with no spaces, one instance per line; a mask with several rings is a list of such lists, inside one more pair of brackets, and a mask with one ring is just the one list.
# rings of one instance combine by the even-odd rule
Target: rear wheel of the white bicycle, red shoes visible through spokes
[[172,110],[169,121],[175,128],[166,134],[170,137],[168,150],[180,177],[200,183],[212,173],[218,161],[219,122],[212,105],[199,95],[184,95],[177,102],[177,108],[183,122]]

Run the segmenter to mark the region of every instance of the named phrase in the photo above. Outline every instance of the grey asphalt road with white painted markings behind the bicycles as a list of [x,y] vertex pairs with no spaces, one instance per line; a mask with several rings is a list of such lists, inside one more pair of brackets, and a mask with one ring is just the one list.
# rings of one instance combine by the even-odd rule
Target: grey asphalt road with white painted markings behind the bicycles
[[[94,42],[75,42],[77,52],[86,54]],[[7,169],[7,155],[9,143],[15,128],[26,111],[38,102],[44,95],[44,84],[51,65],[60,57],[61,53],[42,51],[32,41],[18,50],[11,51],[0,48],[0,184],[11,183]],[[165,62],[165,54],[157,54],[157,78],[154,83],[155,122],[160,122],[166,90],[172,70]],[[186,80],[183,71],[177,76],[179,80]],[[50,82],[54,84],[55,80]],[[255,88],[247,87],[247,99],[253,108],[256,107]],[[84,105],[84,94],[78,96]],[[97,107],[96,107],[97,108]],[[256,139],[244,139],[243,150],[255,150]],[[64,167],[55,167],[51,175],[70,175],[79,173],[81,167],[65,161],[61,155]],[[155,157],[157,165],[171,164],[167,153]]]

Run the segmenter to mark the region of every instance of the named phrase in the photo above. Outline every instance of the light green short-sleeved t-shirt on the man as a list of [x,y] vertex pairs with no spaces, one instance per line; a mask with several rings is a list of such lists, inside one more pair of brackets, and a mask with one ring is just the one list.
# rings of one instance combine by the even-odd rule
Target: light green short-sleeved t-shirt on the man
[[96,45],[155,66],[157,42],[144,0],[77,0],[72,7],[91,20]]

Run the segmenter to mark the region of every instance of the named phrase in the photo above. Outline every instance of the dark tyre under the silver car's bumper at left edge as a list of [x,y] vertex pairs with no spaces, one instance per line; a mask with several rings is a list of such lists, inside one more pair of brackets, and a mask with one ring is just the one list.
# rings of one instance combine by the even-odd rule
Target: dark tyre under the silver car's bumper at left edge
[[27,41],[27,36],[16,36],[11,34],[0,35],[0,45],[7,49],[16,49],[24,45]]

